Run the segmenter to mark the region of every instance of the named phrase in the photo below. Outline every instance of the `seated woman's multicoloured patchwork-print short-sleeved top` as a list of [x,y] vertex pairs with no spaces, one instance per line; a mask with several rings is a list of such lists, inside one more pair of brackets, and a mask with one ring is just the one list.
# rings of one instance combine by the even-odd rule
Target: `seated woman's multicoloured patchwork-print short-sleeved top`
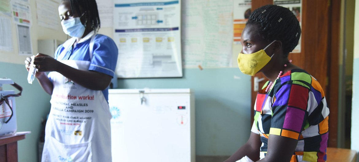
[[290,162],[325,162],[329,108],[318,81],[302,69],[293,69],[258,92],[252,132],[260,134],[260,158],[267,153],[269,134],[298,139]]

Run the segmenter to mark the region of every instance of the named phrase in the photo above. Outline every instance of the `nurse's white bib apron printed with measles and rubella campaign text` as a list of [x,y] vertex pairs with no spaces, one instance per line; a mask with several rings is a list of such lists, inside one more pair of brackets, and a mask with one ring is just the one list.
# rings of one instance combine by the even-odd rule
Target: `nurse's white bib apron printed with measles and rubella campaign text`
[[[89,61],[60,62],[79,70],[88,70],[90,65]],[[84,88],[60,73],[50,73],[53,92],[42,162],[111,162],[112,116],[102,91]]]

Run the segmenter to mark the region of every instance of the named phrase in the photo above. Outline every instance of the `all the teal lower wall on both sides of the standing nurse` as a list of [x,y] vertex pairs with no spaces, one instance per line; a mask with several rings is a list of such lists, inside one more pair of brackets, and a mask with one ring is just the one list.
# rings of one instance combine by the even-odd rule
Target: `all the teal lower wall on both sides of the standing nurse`
[[[50,111],[50,95],[37,81],[27,83],[22,64],[1,63],[0,77],[23,87],[16,98],[18,131],[31,131],[19,141],[19,162],[37,162],[42,119]],[[183,69],[182,78],[118,79],[118,88],[191,88],[196,101],[196,154],[231,155],[250,134],[250,76],[238,68]],[[5,89],[14,89],[4,86]]]

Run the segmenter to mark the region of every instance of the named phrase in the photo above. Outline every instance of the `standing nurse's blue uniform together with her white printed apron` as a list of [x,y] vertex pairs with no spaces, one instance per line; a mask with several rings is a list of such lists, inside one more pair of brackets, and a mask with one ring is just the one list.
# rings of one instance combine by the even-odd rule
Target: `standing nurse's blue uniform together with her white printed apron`
[[[113,76],[117,47],[111,38],[94,34],[85,36],[74,49],[75,38],[67,40],[56,50],[55,58],[75,69]],[[111,162],[108,89],[82,87],[58,72],[48,77],[53,92],[42,162]]]

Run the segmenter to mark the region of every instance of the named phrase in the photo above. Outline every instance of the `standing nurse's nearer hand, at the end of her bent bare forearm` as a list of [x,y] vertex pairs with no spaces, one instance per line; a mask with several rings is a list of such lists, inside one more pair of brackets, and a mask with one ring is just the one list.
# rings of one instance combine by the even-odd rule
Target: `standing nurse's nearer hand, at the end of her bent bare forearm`
[[34,59],[34,64],[35,67],[38,69],[38,72],[56,71],[59,63],[59,61],[55,60],[49,55],[45,55],[42,53],[38,53]]

